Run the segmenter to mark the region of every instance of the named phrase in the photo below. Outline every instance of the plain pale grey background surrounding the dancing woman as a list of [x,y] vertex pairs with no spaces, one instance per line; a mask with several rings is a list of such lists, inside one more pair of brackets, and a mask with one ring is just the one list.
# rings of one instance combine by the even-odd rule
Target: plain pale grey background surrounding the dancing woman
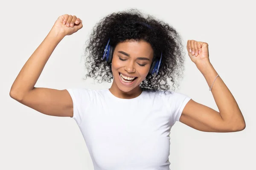
[[[246,122],[243,131],[207,133],[176,122],[171,130],[172,170],[255,170],[255,6],[243,0],[44,0],[0,4],[0,169],[93,170],[75,120],[47,116],[9,96],[17,74],[47,36],[55,20],[72,14],[83,28],[55,48],[36,87],[108,88],[84,81],[82,58],[88,35],[102,17],[137,8],[174,26],[183,38],[209,44],[209,58],[235,97]],[[203,75],[186,54],[186,71],[177,91],[216,111]]]

